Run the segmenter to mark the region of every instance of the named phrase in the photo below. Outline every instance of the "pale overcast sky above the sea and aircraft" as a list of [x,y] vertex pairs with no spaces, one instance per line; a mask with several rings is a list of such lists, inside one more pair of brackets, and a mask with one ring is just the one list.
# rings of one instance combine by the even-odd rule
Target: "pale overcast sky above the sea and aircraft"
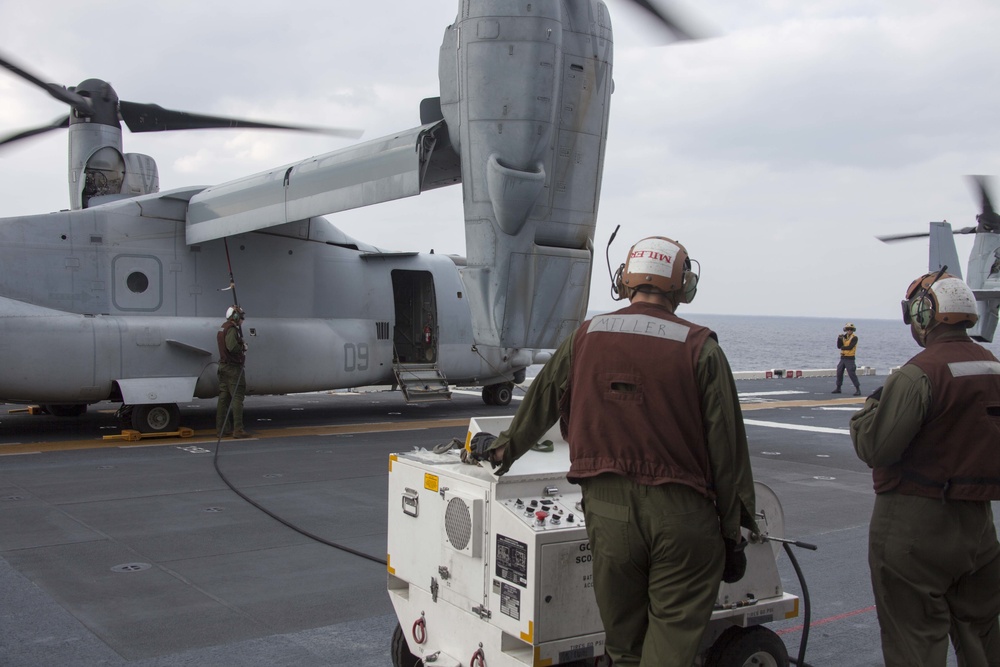
[[[996,0],[701,0],[719,35],[666,45],[608,0],[615,30],[591,308],[612,263],[660,234],[699,260],[688,313],[895,318],[927,244],[876,234],[975,224],[966,174],[1000,174]],[[102,78],[124,100],[297,124],[419,124],[438,94],[452,0],[0,0],[0,50],[42,79]],[[66,108],[0,71],[0,135]],[[125,132],[162,190],[210,185],[349,140],[285,132]],[[0,152],[0,215],[66,208],[66,133]],[[1000,182],[998,182],[1000,183]],[[333,216],[396,250],[465,254],[459,187]],[[1000,199],[1000,190],[997,198]],[[959,239],[963,264],[971,243]],[[964,270],[964,266],[963,266]]]

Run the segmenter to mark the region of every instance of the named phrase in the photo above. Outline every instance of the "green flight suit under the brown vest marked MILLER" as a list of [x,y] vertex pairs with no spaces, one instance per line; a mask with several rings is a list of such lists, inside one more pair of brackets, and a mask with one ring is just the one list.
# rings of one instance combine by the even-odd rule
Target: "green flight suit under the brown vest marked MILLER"
[[[498,474],[560,418],[573,336],[533,380],[495,447]],[[722,581],[722,537],[756,531],[746,431],[729,362],[714,339],[698,359],[697,380],[716,501],[683,484],[647,486],[602,474],[580,481],[594,554],[594,595],[616,667],[690,667]]]

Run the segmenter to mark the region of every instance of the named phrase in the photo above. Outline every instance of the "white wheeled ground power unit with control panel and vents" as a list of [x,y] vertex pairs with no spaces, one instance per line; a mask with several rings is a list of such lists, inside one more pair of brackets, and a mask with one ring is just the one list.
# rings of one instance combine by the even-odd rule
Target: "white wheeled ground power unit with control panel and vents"
[[[510,420],[472,419],[466,442]],[[528,452],[501,477],[488,464],[462,463],[454,449],[390,456],[394,667],[600,664],[604,631],[580,487],[566,481],[569,446],[558,426],[546,438],[551,451]],[[759,483],[756,492],[761,531],[781,537],[777,497]],[[798,597],[782,590],[779,547],[752,542],[746,575],[720,585],[697,664],[788,664],[781,639],[763,627],[799,612]]]

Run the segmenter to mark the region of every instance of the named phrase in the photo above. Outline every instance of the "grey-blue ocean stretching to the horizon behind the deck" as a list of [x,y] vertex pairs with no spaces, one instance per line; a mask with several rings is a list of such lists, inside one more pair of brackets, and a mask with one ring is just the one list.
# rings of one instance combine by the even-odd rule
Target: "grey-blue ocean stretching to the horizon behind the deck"
[[[718,334],[734,371],[836,368],[840,360],[837,335],[847,323],[831,317],[678,314]],[[888,375],[920,351],[902,319],[851,322],[857,327],[858,366],[874,368],[878,375]],[[1000,357],[1000,340],[995,338],[986,347]],[[534,370],[528,375],[534,375]]]

